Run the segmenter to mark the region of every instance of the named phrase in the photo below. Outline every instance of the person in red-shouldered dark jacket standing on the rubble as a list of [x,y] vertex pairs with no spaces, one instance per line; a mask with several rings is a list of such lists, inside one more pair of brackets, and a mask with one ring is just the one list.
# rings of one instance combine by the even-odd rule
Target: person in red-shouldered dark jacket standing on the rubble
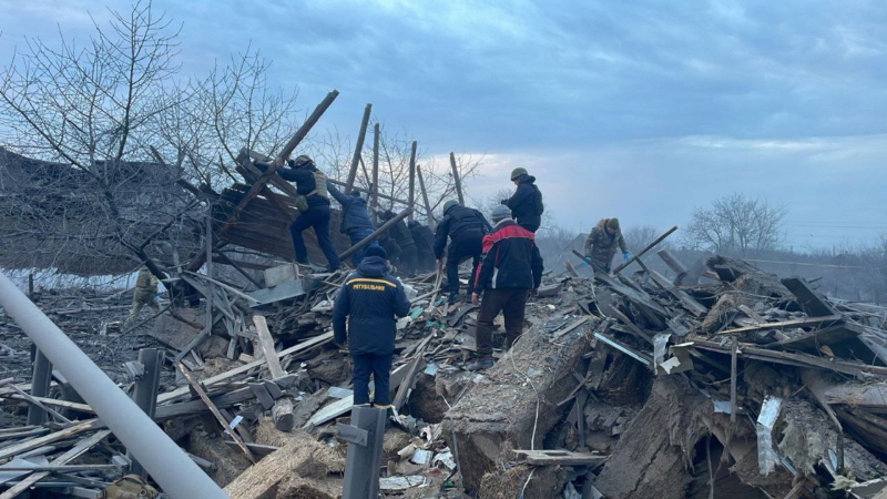
[[483,236],[483,262],[478,269],[471,303],[480,301],[477,327],[478,360],[469,370],[492,367],[492,329],[499,312],[506,323],[506,349],[523,333],[523,313],[530,293],[542,283],[544,269],[533,233],[511,220],[508,207],[492,211],[492,234]]

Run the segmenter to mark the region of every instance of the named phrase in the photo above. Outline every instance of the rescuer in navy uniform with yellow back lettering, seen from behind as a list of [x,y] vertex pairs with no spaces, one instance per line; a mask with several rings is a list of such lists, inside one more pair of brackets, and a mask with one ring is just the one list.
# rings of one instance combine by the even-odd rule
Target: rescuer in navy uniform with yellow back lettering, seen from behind
[[[391,407],[388,376],[395,352],[397,323],[406,317],[409,301],[399,281],[388,274],[388,255],[379,246],[367,249],[357,272],[341,285],[333,306],[336,343],[345,344],[354,361],[354,404],[369,404],[369,375],[376,384],[374,405]],[[346,335],[345,319],[348,318]]]

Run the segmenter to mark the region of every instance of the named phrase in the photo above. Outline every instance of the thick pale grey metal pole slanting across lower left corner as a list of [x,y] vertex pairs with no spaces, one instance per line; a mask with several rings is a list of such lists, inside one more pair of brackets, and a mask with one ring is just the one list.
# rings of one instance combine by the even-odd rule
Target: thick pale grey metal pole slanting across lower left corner
[[166,493],[175,499],[227,499],[227,495],[2,273],[0,306]]

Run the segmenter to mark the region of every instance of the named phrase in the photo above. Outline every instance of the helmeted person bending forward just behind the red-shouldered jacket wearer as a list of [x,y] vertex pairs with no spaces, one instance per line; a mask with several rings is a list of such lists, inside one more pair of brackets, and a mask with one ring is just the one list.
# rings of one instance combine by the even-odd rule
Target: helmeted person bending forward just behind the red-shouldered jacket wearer
[[438,265],[443,258],[443,248],[447,247],[447,237],[450,245],[447,247],[447,291],[449,302],[459,301],[459,264],[472,258],[471,277],[468,279],[468,295],[475,289],[475,277],[483,252],[483,235],[492,231],[490,223],[483,214],[475,208],[465,207],[458,201],[449,200],[443,204],[443,220],[437,226],[435,234],[435,258]]

